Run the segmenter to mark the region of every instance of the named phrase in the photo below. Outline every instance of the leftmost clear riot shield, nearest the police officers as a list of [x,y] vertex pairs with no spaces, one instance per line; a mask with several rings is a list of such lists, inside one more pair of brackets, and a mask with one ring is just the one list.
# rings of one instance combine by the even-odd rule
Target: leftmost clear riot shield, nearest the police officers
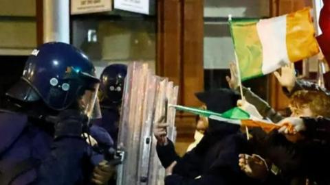
[[121,151],[122,156],[124,156],[122,165],[118,167],[120,168],[118,170],[124,178],[120,178],[121,182],[118,184],[136,184],[137,181],[137,161],[139,160],[137,151],[140,148],[141,114],[147,72],[147,64],[133,63],[129,66],[126,76],[129,82],[124,87],[124,93],[128,93],[128,95],[122,104],[122,118],[120,119],[118,136],[118,151]]

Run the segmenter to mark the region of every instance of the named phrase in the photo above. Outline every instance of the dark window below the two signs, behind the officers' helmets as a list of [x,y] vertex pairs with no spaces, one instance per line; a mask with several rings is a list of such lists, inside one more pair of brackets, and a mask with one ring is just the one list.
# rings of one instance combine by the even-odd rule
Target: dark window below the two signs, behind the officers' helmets
[[91,58],[97,73],[109,64],[133,61],[155,69],[156,20],[120,10],[72,16],[72,43]]

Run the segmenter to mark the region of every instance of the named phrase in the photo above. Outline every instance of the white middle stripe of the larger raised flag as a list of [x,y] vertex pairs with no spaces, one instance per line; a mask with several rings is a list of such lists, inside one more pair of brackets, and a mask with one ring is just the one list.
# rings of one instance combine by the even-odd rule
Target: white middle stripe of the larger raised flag
[[263,74],[272,73],[289,64],[287,54],[287,16],[265,19],[256,24],[263,47]]

